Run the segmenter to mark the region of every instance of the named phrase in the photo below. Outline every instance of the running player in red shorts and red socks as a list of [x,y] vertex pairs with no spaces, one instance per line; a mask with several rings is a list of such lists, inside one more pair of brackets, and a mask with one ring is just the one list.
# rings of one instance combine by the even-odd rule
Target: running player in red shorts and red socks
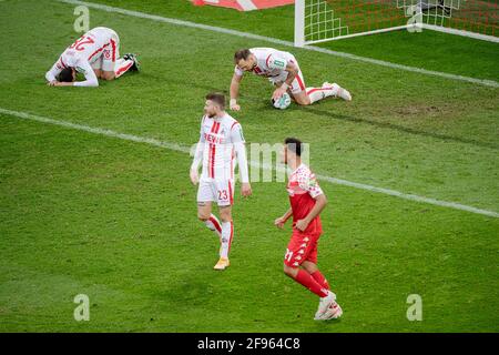
[[302,163],[303,144],[288,138],[282,153],[283,162],[291,168],[287,183],[291,209],[275,220],[282,229],[293,216],[293,235],[284,257],[284,273],[320,297],[314,320],[327,321],[342,316],[336,295],[317,267],[317,243],[323,233],[319,214],[327,200],[308,166]]

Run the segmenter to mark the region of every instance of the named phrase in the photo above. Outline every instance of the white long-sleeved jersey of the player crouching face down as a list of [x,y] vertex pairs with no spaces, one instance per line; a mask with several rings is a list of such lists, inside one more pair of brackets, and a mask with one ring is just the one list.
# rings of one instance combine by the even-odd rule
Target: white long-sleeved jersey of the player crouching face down
[[45,78],[53,81],[64,68],[74,68],[85,77],[85,81],[74,82],[75,87],[96,87],[99,82],[92,63],[99,60],[108,48],[111,49],[111,53],[116,53],[116,32],[104,27],[94,28],[65,49],[52,69],[47,72]]

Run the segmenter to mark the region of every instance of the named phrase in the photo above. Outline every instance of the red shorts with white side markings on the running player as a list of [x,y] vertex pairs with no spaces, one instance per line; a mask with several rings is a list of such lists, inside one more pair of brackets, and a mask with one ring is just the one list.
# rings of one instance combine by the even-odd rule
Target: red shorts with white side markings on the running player
[[287,244],[284,264],[291,267],[298,267],[307,261],[317,264],[317,243],[320,233],[303,233],[293,230],[292,239]]

